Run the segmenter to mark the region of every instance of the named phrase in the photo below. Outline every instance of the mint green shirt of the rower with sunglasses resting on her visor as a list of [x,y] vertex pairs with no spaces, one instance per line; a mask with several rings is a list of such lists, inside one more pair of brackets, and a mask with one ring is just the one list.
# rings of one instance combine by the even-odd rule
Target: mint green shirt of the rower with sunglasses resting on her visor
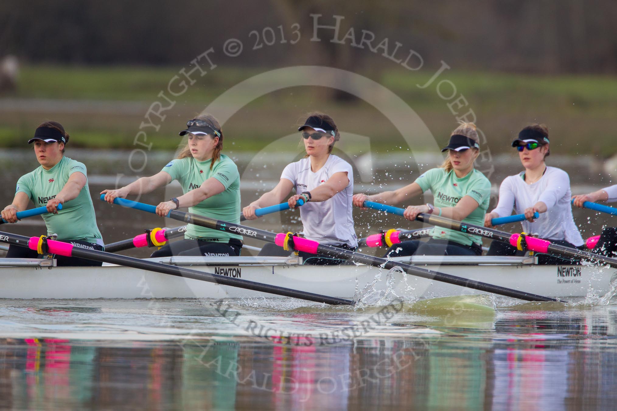
[[[225,187],[225,191],[206,198],[196,206],[189,207],[189,213],[240,224],[240,174],[238,167],[231,158],[223,154],[214,163],[212,170],[210,170],[211,161],[212,159],[197,161],[193,157],[184,157],[180,160],[176,158],[167,163],[162,171],[172,176],[172,180],[180,182],[184,194],[201,187],[202,183],[210,177],[220,181]],[[184,238],[223,243],[228,242],[230,238],[242,240],[241,235],[195,226],[194,224],[188,224]]]

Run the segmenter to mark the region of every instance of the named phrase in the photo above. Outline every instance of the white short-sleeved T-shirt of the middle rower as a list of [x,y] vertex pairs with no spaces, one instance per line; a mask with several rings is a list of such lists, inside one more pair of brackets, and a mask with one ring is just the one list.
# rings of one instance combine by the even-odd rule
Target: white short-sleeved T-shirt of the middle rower
[[342,191],[334,194],[326,201],[313,203],[309,201],[300,207],[300,219],[304,227],[304,235],[329,245],[347,244],[358,246],[355,235],[354,216],[352,215],[354,195],[354,172],[347,163],[336,155],[329,155],[325,165],[313,173],[310,169],[310,158],[302,158],[285,167],[281,178],[288,179],[296,187],[296,193],[312,191],[328,181],[334,173],[347,173],[349,184]]

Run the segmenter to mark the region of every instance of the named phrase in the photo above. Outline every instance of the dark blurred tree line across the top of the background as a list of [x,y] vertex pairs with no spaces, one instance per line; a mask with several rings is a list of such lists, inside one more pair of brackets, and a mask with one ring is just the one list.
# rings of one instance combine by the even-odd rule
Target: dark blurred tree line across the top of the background
[[[425,62],[440,60],[470,70],[534,73],[617,72],[615,0],[408,0],[341,2],[307,0],[4,0],[0,2],[0,57],[24,63],[170,65],[188,62],[210,46],[238,38],[242,66],[289,63],[339,68],[375,65],[372,53],[310,42],[311,13],[333,24],[342,15],[341,35],[354,27],[413,49]],[[249,52],[251,30],[299,23],[301,47],[265,47]],[[280,39],[277,39],[280,40]],[[386,59],[383,64],[387,64]],[[379,63],[377,63],[379,64]],[[379,70],[376,68],[375,70]]]

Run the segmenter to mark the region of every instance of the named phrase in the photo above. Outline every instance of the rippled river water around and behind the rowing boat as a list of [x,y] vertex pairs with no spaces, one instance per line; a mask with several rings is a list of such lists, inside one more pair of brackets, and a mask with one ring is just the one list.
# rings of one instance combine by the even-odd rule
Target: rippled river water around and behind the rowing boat
[[[129,152],[70,154],[88,166],[93,197],[138,174],[126,166]],[[36,167],[30,156],[2,153],[4,203],[12,199],[17,178]],[[156,172],[169,158],[171,153],[151,153],[141,175]],[[238,153],[236,160],[246,204],[278,181],[289,155],[273,156],[265,167],[251,155]],[[395,155],[367,161],[355,159],[357,192],[405,184],[435,159],[413,160],[413,166],[412,159]],[[495,161],[496,189],[519,165],[511,156]],[[570,173],[579,192],[609,184],[592,158],[551,161]],[[140,200],[156,204],[177,190],[157,190]],[[107,243],[145,228],[178,225],[99,200],[94,205]],[[368,211],[356,216],[358,235],[412,227]],[[585,237],[611,224],[586,210],[575,210],[575,219]],[[292,212],[250,225],[299,227]],[[23,235],[42,229],[38,218],[2,226]],[[150,251],[125,254],[144,257]],[[0,299],[0,407],[612,409],[616,330],[617,305],[597,299],[521,303],[462,295],[385,306],[360,301],[358,307],[266,298]]]

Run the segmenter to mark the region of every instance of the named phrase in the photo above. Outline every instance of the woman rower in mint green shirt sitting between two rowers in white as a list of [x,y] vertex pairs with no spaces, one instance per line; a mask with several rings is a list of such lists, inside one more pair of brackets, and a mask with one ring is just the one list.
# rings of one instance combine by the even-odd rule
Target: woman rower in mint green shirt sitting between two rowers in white
[[[416,195],[431,190],[434,205],[408,206],[404,217],[415,221],[420,213],[436,213],[446,218],[484,225],[484,214],[491,197],[491,182],[473,168],[479,154],[479,137],[473,123],[461,123],[450,135],[450,142],[442,152],[448,157],[439,168],[422,174],[412,184],[401,189],[367,196],[354,195],[354,205],[362,207],[364,201],[387,205],[409,203]],[[428,242],[408,240],[392,245],[386,256],[408,255],[469,255],[482,254],[482,238],[442,227],[435,227]]]

